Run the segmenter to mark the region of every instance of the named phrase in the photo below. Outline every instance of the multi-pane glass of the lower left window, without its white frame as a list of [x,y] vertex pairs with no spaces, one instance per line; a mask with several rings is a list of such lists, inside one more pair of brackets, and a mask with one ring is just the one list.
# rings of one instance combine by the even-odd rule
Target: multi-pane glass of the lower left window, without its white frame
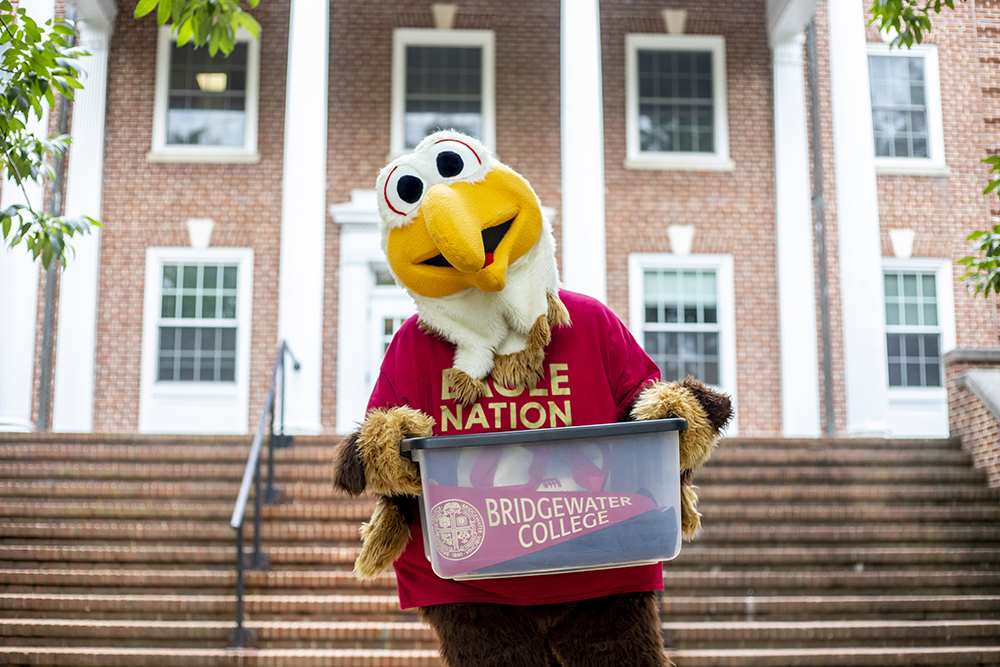
[[163,265],[158,382],[235,381],[238,275],[236,265]]

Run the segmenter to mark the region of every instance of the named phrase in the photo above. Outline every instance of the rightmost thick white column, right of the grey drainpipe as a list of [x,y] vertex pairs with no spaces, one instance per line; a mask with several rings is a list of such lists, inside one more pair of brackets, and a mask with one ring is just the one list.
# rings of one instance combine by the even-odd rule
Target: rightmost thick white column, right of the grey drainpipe
[[861,0],[828,3],[847,434],[888,432],[882,245]]

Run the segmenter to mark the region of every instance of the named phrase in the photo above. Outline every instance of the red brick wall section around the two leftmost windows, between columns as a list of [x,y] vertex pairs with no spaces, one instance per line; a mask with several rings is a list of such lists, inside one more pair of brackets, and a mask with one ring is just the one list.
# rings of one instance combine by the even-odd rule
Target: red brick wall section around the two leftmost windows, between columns
[[284,138],[288,5],[263,2],[259,164],[154,164],[157,26],[120,1],[111,39],[101,219],[95,367],[95,431],[139,425],[146,248],[188,246],[188,218],[212,218],[213,247],[254,249],[253,337],[248,423],[260,413],[274,362]]

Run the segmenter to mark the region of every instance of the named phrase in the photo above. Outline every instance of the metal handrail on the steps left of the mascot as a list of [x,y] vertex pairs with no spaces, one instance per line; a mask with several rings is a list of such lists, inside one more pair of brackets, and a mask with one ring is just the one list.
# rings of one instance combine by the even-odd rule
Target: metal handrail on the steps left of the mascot
[[[253,631],[243,626],[243,570],[246,569],[243,554],[243,519],[246,514],[247,501],[250,498],[250,486],[254,486],[254,531],[253,531],[253,561],[250,568],[261,570],[267,567],[267,556],[260,548],[260,515],[261,503],[273,505],[281,502],[282,494],[274,488],[274,450],[291,447],[292,437],[285,435],[285,355],[292,358],[292,368],[299,370],[301,365],[288,348],[288,343],[281,341],[278,348],[278,358],[271,371],[271,384],[267,388],[267,398],[257,425],[257,433],[250,446],[250,456],[247,457],[247,467],[243,471],[243,481],[240,492],[236,496],[236,507],[233,508],[233,518],[230,525],[236,530],[236,627],[230,634],[229,644],[233,648],[246,648],[255,639]],[[274,399],[277,387],[278,371],[281,371],[281,411],[278,433],[274,432]],[[264,442],[264,427],[268,426],[268,476],[267,491],[261,492],[260,450]]]

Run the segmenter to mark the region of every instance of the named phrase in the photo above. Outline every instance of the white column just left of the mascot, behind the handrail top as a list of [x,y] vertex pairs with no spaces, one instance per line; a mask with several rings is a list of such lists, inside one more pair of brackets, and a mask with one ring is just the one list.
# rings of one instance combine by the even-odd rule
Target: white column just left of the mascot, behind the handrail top
[[[329,0],[292,0],[285,90],[278,337],[302,363],[288,373],[286,430],[319,433],[326,251]],[[275,347],[277,350],[277,347]]]

